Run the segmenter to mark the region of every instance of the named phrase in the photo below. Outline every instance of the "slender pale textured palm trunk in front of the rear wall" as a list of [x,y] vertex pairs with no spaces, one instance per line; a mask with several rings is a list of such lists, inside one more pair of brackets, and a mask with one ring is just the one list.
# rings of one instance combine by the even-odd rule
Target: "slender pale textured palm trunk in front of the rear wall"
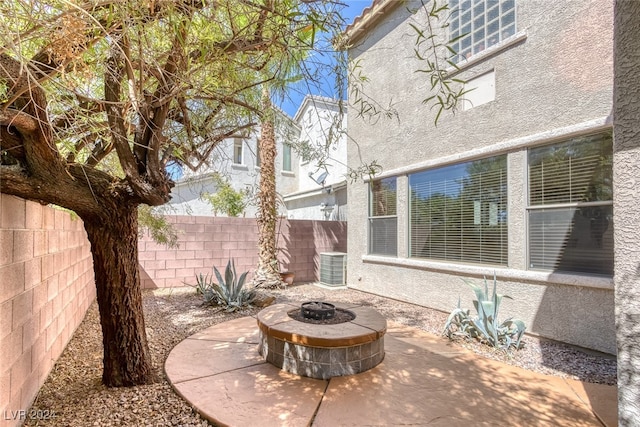
[[276,222],[278,209],[276,205],[276,137],[273,108],[270,94],[264,90],[262,94],[263,116],[261,123],[260,144],[260,197],[258,211],[258,250],[259,263],[254,275],[257,286],[271,288],[282,284],[278,266],[278,249],[276,244]]

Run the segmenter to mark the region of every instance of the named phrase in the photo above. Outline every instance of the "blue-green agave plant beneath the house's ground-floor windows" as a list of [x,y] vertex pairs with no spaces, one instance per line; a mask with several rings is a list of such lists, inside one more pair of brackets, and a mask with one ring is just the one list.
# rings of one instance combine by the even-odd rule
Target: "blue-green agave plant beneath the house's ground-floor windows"
[[473,306],[476,309],[477,317],[471,317],[469,310],[458,307],[449,314],[447,323],[444,326],[443,335],[454,339],[456,337],[475,338],[496,348],[509,350],[521,348],[522,335],[526,326],[522,320],[509,318],[502,323],[498,323],[498,311],[503,298],[511,297],[496,293],[497,280],[493,278],[493,292],[489,294],[487,278],[484,279],[484,287],[465,280],[465,283],[473,289],[476,300]]

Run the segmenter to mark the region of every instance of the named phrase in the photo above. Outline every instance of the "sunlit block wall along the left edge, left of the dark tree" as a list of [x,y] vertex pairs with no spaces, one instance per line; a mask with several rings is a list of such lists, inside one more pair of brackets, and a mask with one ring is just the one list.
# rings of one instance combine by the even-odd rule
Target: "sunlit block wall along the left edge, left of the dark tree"
[[0,426],[17,426],[95,299],[82,221],[0,194],[0,282]]

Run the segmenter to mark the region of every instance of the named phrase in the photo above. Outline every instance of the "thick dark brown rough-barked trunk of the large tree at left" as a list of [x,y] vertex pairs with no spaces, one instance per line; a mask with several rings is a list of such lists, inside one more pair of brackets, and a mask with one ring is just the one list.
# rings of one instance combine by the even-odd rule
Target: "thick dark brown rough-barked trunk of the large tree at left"
[[102,381],[108,387],[151,383],[156,378],[142,310],[137,207],[114,203],[108,215],[83,220],[102,325]]

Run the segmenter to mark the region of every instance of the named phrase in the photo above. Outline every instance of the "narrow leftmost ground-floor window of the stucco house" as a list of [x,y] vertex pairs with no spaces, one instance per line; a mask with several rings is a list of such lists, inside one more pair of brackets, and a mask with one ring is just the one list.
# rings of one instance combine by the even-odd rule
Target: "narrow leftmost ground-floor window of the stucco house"
[[372,181],[369,186],[369,253],[398,254],[396,178]]

